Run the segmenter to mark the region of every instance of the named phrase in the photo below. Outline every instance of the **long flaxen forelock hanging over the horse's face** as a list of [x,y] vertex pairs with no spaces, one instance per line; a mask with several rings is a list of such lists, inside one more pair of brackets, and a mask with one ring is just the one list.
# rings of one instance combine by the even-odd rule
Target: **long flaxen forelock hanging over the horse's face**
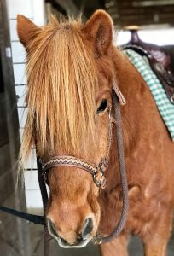
[[55,154],[55,148],[78,153],[85,137],[92,140],[98,85],[94,56],[81,29],[80,20],[59,23],[52,17],[29,44],[21,161],[27,159],[35,138],[41,157]]

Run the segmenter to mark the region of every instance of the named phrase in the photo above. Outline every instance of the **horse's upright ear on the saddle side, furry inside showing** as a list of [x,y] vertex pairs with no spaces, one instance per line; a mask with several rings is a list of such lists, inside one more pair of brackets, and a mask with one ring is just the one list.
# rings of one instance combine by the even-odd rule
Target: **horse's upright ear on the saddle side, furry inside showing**
[[113,20],[104,10],[97,10],[83,27],[95,42],[96,54],[103,55],[113,43]]

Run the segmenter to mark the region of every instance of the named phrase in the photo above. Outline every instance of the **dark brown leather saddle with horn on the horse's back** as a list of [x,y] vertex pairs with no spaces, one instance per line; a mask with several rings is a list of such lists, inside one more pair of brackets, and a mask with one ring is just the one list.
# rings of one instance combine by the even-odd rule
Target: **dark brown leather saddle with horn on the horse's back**
[[128,27],[127,30],[131,32],[131,40],[121,48],[133,49],[148,58],[149,65],[163,85],[169,101],[174,104],[174,69],[171,66],[171,54],[162,46],[143,42],[138,36],[136,26]]

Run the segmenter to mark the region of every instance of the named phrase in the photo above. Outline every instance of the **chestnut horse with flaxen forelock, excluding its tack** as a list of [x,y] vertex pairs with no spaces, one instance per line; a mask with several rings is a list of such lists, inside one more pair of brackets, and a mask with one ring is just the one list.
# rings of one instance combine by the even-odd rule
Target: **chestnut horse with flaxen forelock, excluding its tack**
[[[110,16],[98,10],[84,25],[52,18],[40,28],[19,15],[18,34],[27,52],[28,79],[21,161],[36,143],[44,161],[66,154],[99,163],[106,155],[107,110],[116,83],[127,102],[121,113],[130,209],[121,235],[101,245],[101,252],[127,255],[129,235],[135,234],[146,256],[164,256],[174,207],[174,145],[147,84],[113,46]],[[105,189],[78,167],[55,166],[49,172],[49,232],[62,247],[84,247],[119,221],[122,193],[114,138],[113,126]]]

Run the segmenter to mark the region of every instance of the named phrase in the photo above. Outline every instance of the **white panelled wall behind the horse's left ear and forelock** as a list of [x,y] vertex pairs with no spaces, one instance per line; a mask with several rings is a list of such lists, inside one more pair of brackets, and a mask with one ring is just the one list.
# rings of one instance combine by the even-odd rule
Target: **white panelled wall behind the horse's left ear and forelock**
[[[16,32],[18,14],[25,15],[30,20],[34,21],[38,26],[44,25],[44,0],[7,0],[11,48],[14,66],[14,84],[18,100],[18,113],[20,120],[20,135],[26,120],[26,111],[24,94],[26,90],[26,51]],[[38,187],[37,164],[35,153],[32,152],[30,159],[27,162],[25,170],[25,184],[26,184],[26,206],[42,207],[42,199]],[[31,171],[31,169],[33,171]]]

